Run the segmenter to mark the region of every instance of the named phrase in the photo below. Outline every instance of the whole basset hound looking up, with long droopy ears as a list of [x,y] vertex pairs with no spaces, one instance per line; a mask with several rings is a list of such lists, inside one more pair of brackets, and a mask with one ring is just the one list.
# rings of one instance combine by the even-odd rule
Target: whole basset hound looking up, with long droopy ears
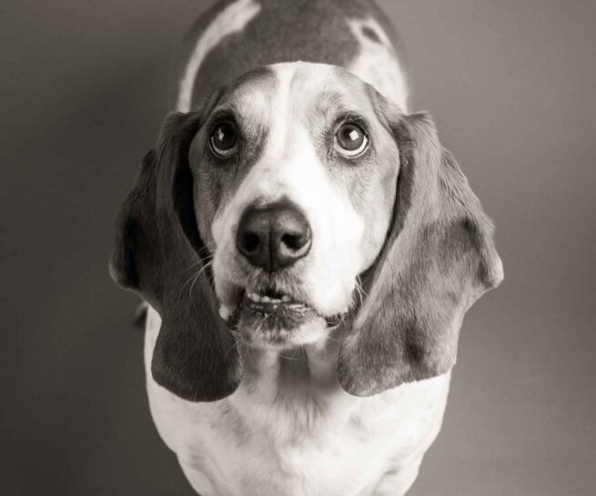
[[157,430],[203,496],[398,496],[436,438],[493,227],[369,0],[191,29],[110,272],[146,301]]

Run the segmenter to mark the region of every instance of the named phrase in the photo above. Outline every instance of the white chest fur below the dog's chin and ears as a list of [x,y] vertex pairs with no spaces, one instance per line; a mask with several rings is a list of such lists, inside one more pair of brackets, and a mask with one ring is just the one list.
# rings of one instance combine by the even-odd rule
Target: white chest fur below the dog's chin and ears
[[182,400],[151,377],[160,324],[149,308],[151,412],[202,496],[397,496],[439,432],[449,373],[356,398],[338,384],[334,352],[314,348],[303,359],[253,353],[229,398]]

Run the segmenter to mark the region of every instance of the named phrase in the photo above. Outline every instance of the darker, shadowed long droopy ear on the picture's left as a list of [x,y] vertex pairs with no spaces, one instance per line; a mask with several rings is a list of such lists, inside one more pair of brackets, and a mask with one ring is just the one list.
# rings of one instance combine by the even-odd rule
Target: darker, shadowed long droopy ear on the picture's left
[[201,112],[167,117],[117,215],[110,273],[161,316],[153,378],[181,398],[209,401],[237,389],[241,363],[217,312],[194,213],[188,149],[200,121]]

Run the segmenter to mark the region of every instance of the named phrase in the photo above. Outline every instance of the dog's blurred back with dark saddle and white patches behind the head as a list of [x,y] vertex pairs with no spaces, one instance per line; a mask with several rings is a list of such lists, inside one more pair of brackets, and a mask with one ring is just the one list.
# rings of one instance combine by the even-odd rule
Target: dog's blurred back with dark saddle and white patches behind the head
[[255,67],[298,60],[345,67],[406,110],[403,58],[371,0],[223,0],[187,35],[177,110]]

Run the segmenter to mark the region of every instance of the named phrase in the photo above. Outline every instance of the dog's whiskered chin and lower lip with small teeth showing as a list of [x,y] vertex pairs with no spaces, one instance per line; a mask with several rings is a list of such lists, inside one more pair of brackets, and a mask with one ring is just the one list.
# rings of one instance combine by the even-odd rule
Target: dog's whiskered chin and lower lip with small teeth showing
[[222,312],[222,318],[251,348],[289,349],[316,343],[327,338],[332,323],[308,303],[285,294],[258,295],[239,289],[235,303],[234,309]]

